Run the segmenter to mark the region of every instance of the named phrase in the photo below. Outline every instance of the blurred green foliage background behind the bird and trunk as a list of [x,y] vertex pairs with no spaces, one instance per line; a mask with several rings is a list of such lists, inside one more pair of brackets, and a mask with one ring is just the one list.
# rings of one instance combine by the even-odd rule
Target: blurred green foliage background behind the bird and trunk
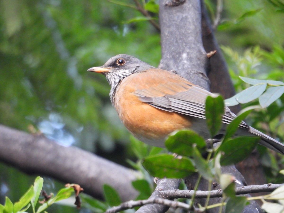
[[[237,89],[244,89],[236,77],[240,73],[283,81],[284,4],[279,2],[224,1],[216,36],[229,47],[224,51],[232,75],[237,73]],[[214,17],[216,2],[206,0],[206,5]],[[159,32],[146,21],[129,23],[141,16],[101,0],[0,0],[0,123],[23,131],[32,125],[62,145],[129,166],[130,134],[111,106],[110,86],[87,69],[120,53],[158,66]],[[260,48],[245,52],[255,46]],[[5,196],[17,201],[34,178],[1,162],[0,203]],[[47,193],[62,187],[48,177],[44,184]],[[52,208],[59,209],[48,211],[66,211]]]

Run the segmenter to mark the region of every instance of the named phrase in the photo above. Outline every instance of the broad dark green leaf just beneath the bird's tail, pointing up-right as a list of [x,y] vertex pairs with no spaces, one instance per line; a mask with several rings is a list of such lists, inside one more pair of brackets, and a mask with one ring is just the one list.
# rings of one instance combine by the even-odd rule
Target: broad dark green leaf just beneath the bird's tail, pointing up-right
[[218,148],[219,152],[224,152],[220,164],[226,166],[244,160],[253,151],[259,140],[259,137],[244,136],[224,141]]

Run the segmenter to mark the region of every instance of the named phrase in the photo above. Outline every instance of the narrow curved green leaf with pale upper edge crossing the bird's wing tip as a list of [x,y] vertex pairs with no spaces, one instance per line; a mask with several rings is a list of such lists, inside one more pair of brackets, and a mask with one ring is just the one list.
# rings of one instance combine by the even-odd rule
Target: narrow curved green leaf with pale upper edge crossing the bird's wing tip
[[256,106],[249,106],[241,112],[239,112],[239,115],[227,126],[226,133],[224,135],[223,141],[229,139],[232,137],[237,129],[239,128],[240,123],[250,114],[252,109],[257,108]]

